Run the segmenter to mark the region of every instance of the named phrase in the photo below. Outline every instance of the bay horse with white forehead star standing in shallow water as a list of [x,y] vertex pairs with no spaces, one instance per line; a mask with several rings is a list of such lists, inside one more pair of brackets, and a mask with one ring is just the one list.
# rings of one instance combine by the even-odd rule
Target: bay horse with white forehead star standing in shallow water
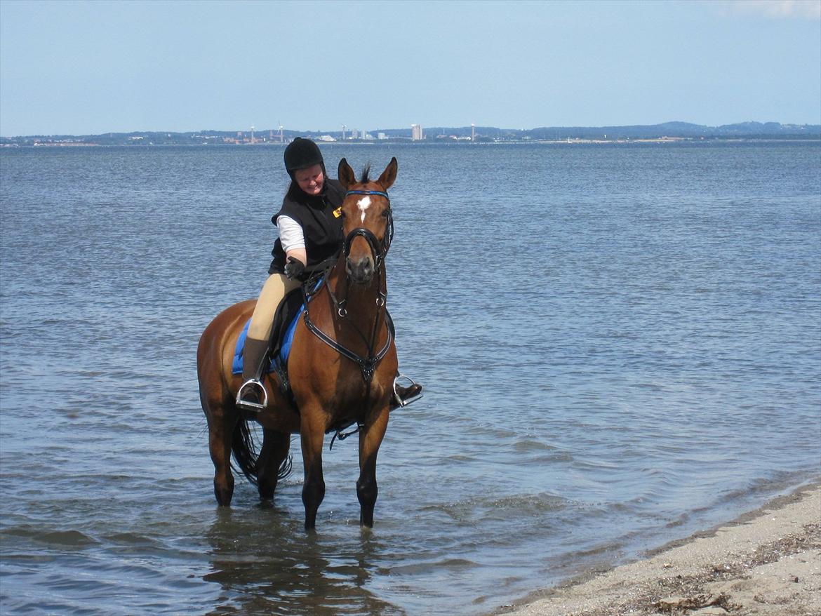
[[[263,379],[268,396],[263,411],[250,417],[236,408],[242,377],[232,374],[232,360],[255,300],[228,307],[205,328],[197,347],[197,376],[208,419],[214,495],[220,505],[229,505],[234,491],[232,453],[240,470],[257,485],[259,497],[271,499],[277,480],[290,471],[291,434],[300,434],[305,529],[314,529],[325,494],[324,435],[356,424],[360,524],[374,525],[376,457],[388,428],[398,374],[385,272],[393,234],[388,189],[396,180],[397,167],[397,159],[392,158],[378,180],[370,180],[365,168],[356,181],[346,159],[339,163],[339,182],[347,192],[336,213],[342,217],[346,239],[319,288],[306,292],[308,301],[298,317],[287,361],[292,399],[282,392],[279,377],[272,373]],[[248,425],[251,420],[263,428],[259,453]]]

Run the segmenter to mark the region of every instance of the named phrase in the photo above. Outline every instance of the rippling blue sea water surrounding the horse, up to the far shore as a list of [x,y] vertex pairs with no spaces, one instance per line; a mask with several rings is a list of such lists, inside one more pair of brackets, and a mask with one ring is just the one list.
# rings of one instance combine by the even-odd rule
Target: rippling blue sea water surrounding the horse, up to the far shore
[[[424,398],[213,501],[195,347],[268,267],[278,147],[0,149],[4,614],[486,614],[821,463],[821,145],[328,145],[400,164]],[[329,441],[329,439],[328,439]]]

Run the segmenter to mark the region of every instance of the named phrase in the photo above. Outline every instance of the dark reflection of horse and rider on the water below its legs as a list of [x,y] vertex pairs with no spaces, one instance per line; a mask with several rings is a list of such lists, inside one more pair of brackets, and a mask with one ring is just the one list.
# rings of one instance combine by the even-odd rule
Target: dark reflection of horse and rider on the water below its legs
[[223,595],[209,614],[405,614],[367,588],[384,546],[371,531],[355,532],[351,541],[306,534],[300,520],[270,506],[219,508],[203,579],[220,584]]

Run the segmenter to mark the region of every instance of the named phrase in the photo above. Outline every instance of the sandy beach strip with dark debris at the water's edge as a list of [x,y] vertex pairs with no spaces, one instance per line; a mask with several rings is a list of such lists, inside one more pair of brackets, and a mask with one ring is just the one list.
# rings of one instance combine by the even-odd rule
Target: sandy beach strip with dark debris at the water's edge
[[821,484],[648,558],[570,580],[503,614],[821,614]]

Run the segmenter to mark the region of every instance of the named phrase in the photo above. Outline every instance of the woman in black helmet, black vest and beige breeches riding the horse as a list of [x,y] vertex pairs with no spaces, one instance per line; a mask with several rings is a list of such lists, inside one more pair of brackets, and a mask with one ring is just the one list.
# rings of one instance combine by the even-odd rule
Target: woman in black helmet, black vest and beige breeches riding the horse
[[[296,137],[285,149],[285,169],[291,176],[291,185],[282,200],[282,209],[271,218],[279,237],[271,251],[273,261],[268,279],[248,326],[242,352],[243,384],[236,394],[239,407],[256,412],[264,408],[259,403],[264,392],[257,375],[268,358],[273,317],[280,302],[288,292],[300,287],[300,276],[306,266],[313,268],[333,257],[345,241],[342,218],[333,215],[345,199],[345,188],[338,180],[327,177],[319,147],[311,140]],[[395,383],[394,390],[397,395],[392,399],[392,408],[418,398],[422,387],[411,381],[407,388]]]

